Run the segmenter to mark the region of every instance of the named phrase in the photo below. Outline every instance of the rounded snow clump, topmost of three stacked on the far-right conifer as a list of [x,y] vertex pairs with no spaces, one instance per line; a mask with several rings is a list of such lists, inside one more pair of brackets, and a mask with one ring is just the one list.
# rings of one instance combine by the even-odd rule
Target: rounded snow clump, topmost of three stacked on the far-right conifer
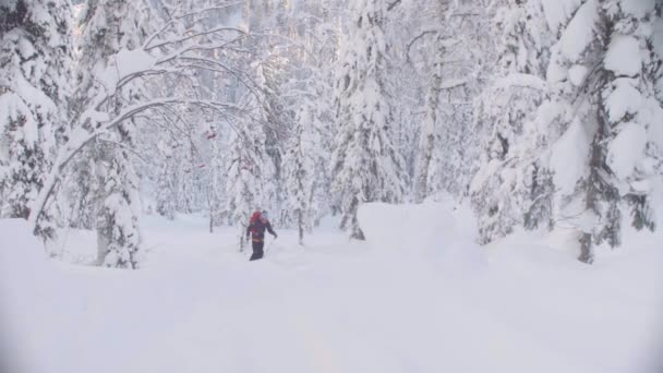
[[616,75],[638,74],[642,69],[638,39],[632,36],[613,35],[605,53],[604,67]]

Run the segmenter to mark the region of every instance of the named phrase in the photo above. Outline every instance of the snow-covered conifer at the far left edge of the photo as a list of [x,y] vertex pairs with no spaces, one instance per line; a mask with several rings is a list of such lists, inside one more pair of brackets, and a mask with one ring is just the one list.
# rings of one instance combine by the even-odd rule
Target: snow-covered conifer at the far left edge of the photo
[[[67,136],[72,63],[69,0],[0,4],[0,217],[27,218]],[[55,233],[44,210],[36,233]]]

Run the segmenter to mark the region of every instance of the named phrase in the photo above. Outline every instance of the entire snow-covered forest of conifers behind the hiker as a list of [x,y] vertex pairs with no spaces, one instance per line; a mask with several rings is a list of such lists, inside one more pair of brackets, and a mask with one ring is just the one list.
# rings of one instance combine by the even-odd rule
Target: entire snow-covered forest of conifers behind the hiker
[[[655,0],[3,0],[0,217],[95,230],[136,267],[142,214],[300,240],[358,206],[471,202],[479,240],[655,229]],[[239,237],[241,238],[241,232]],[[243,242],[241,239],[238,242]]]

